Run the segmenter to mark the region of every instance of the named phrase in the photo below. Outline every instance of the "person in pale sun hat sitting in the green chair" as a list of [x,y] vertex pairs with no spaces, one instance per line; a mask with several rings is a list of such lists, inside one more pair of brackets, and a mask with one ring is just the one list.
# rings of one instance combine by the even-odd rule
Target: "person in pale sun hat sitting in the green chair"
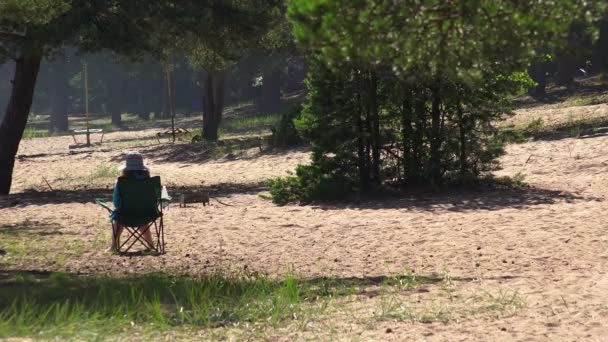
[[[121,179],[121,178],[127,178],[130,180],[145,180],[145,179],[150,178],[150,171],[148,170],[148,168],[146,166],[144,166],[144,158],[141,154],[139,154],[139,153],[127,154],[127,157],[125,160],[125,165],[122,167],[122,175],[119,177],[119,179]],[[110,218],[114,221],[114,220],[116,220],[118,212],[120,211],[121,202],[122,202],[121,195],[120,195],[120,189],[118,187],[118,181],[116,182],[116,185],[114,186],[113,202],[114,202],[115,209],[112,212],[112,214],[110,215]],[[118,232],[115,236],[114,236],[114,234],[112,236],[112,247],[110,249],[118,248],[120,235],[122,234],[122,231],[124,230],[124,226],[120,222],[116,222],[116,223],[118,225],[117,226]],[[139,232],[142,234],[141,236],[146,241],[147,247],[149,249],[152,249],[153,248],[152,233],[150,232],[150,229],[148,229],[148,226],[146,226],[146,225],[140,226],[138,229],[139,229]]]

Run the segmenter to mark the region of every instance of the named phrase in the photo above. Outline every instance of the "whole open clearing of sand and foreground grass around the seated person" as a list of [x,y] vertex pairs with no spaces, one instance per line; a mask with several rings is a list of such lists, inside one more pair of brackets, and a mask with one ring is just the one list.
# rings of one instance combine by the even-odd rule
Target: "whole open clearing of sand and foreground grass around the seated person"
[[[608,136],[568,126],[607,113],[606,104],[520,110],[506,124],[572,128],[508,147],[497,176],[526,185],[307,206],[263,198],[265,180],[308,162],[305,148],[201,154],[147,141],[152,128],[109,133],[79,153],[69,136],[24,140],[14,194],[0,203],[0,335],[607,336]],[[165,255],[109,254],[109,221],[93,199],[111,197],[132,150],[171,194],[206,191],[231,206],[175,203]],[[6,304],[15,298],[33,316],[15,318]]]

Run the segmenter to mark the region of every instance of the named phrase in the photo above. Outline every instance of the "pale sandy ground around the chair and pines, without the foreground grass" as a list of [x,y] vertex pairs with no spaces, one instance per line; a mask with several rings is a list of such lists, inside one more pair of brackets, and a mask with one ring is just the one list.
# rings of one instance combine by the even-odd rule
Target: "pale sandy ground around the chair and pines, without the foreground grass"
[[[585,110],[606,114],[608,107]],[[112,133],[105,139],[152,134]],[[42,242],[32,248],[52,250],[58,241],[80,246],[63,262],[23,256],[31,269],[294,272],[302,277],[357,277],[362,283],[407,271],[440,277],[443,285],[400,294],[402,303],[434,313],[443,310],[449,319],[369,324],[361,318],[376,314],[381,299],[358,296],[348,304],[348,314],[331,316],[331,329],[322,324],[303,331],[279,329],[277,340],[608,340],[608,136],[510,146],[498,174],[521,173],[529,189],[282,207],[260,198],[259,184],[307,162],[306,151],[179,161],[178,149],[150,141],[152,146],[139,150],[170,193],[179,187],[210,191],[233,205],[171,206],[165,213],[167,254],[159,257],[104,252],[109,223],[92,200],[109,198],[113,179],[96,178],[86,188],[83,184],[100,165],[118,166],[126,149],[112,149],[110,143],[105,150],[70,154],[70,140],[24,141],[16,165],[16,194],[0,207],[0,229],[28,227],[32,239]],[[45,191],[42,177],[57,195],[22,193]],[[16,205],[7,208],[15,199]],[[0,268],[17,267],[2,262],[0,258]],[[508,301],[505,310],[486,305],[499,303],[496,297],[503,294],[516,297],[519,304]],[[517,309],[511,312],[511,306]]]

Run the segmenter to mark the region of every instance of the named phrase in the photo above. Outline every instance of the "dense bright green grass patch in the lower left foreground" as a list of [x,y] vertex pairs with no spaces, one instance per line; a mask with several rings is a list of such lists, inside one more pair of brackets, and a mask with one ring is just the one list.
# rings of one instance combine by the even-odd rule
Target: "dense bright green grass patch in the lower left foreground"
[[135,326],[164,331],[238,323],[276,325],[301,316],[309,288],[293,277],[125,278],[0,276],[0,338],[19,336],[94,339]]

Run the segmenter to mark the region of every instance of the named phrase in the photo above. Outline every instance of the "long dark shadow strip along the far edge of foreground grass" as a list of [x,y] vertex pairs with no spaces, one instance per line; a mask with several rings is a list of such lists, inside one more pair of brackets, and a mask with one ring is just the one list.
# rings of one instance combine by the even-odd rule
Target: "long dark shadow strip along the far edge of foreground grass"
[[[511,280],[525,278],[519,275],[501,275],[484,277],[485,280]],[[399,286],[402,289],[414,289],[426,285],[436,285],[446,280],[441,275],[409,274],[409,275],[377,275],[363,277],[314,277],[314,278],[270,278],[260,273],[220,274],[217,272],[202,274],[172,275],[167,273],[131,274],[129,276],[106,276],[102,274],[63,273],[42,270],[0,270],[0,288],[6,293],[12,292],[11,297],[27,292],[44,292],[44,298],[68,299],[75,293],[97,293],[99,287],[112,284],[114,289],[131,289],[143,286],[144,290],[168,291],[180,282],[227,282],[238,286],[247,286],[255,280],[267,282],[267,286],[283,286],[285,282],[294,282],[303,289],[302,296],[312,295],[357,295],[365,293],[370,287]],[[451,282],[474,282],[475,277],[450,277]],[[69,291],[66,290],[69,289]],[[355,291],[353,291],[355,289]],[[221,288],[219,289],[221,290]],[[227,289],[229,290],[229,289]],[[350,291],[345,291],[350,290]],[[130,291],[128,291],[130,292]],[[169,293],[167,293],[169,295]],[[228,294],[227,294],[228,295]],[[0,296],[1,297],[1,296]],[[172,299],[172,298],[171,298]],[[1,305],[0,305],[1,309]]]

